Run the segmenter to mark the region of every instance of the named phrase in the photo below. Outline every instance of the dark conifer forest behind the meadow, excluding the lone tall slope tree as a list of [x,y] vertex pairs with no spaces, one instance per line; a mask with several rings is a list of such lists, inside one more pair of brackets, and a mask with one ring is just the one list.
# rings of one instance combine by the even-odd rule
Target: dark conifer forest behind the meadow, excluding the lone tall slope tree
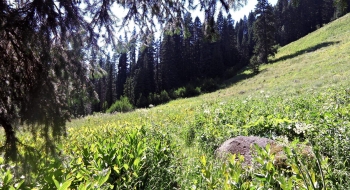
[[[273,7],[276,44],[298,40],[350,12],[347,5],[350,0],[278,0]],[[106,74],[93,79],[98,101],[75,100],[75,115],[104,112],[121,97],[135,107],[148,107],[215,90],[218,81],[249,64],[256,18],[250,12],[236,22],[220,12],[215,27],[205,28],[198,17],[187,14],[183,31],[164,34],[142,48],[138,40],[120,37],[129,42],[127,48],[99,58]],[[215,30],[214,36],[208,37],[207,30]]]

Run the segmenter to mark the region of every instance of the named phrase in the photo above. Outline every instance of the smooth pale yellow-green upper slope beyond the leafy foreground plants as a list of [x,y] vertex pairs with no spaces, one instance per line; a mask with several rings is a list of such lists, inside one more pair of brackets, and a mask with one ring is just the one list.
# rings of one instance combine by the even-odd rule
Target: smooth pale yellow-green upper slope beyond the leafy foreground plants
[[[193,119],[195,108],[208,102],[254,96],[261,91],[293,96],[309,90],[318,91],[337,85],[349,85],[349,21],[350,14],[280,48],[275,58],[270,60],[273,64],[262,66],[262,72],[256,76],[251,77],[250,71],[244,70],[226,81],[226,87],[216,92],[171,101],[153,109],[104,115],[101,121],[120,123],[123,120],[135,119],[135,115],[147,115],[146,118],[138,119],[155,122],[161,126],[186,125]],[[79,125],[81,122],[86,122],[86,119],[76,120],[69,125]]]

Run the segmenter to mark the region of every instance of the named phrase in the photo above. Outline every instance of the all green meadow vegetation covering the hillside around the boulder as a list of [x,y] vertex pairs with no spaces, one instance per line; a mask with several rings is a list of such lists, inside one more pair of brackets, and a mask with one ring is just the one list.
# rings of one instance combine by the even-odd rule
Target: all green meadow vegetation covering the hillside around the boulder
[[[19,132],[22,169],[0,158],[0,185],[14,189],[346,189],[350,187],[350,14],[281,47],[258,75],[242,70],[221,90],[129,113],[68,123],[56,157]],[[238,135],[284,143],[253,167],[215,149]],[[3,138],[2,138],[3,139]],[[4,140],[0,142],[0,145]],[[296,143],[313,146],[305,157]],[[19,147],[20,151],[28,147]],[[238,156],[237,156],[238,157]],[[30,172],[28,172],[30,171]],[[23,176],[22,176],[23,174]],[[22,182],[25,182],[25,184]],[[21,185],[22,184],[22,185]],[[21,185],[21,186],[20,186]]]

